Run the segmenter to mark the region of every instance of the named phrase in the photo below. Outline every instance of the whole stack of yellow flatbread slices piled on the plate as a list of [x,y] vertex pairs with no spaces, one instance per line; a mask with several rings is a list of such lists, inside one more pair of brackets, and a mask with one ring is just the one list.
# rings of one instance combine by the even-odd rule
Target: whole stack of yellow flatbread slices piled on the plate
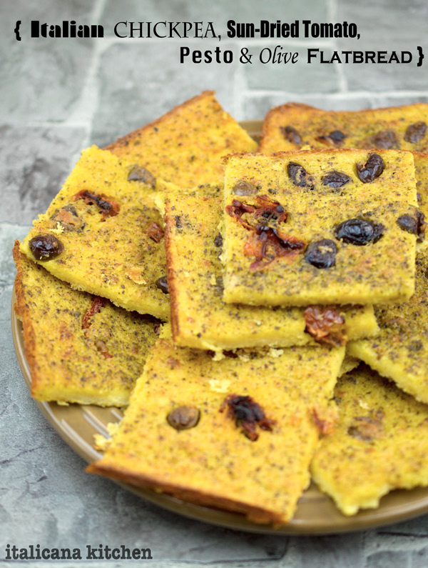
[[125,407],[88,471],[290,522],[428,485],[428,105],[272,109],[205,91],[92,146],[23,243],[36,399]]

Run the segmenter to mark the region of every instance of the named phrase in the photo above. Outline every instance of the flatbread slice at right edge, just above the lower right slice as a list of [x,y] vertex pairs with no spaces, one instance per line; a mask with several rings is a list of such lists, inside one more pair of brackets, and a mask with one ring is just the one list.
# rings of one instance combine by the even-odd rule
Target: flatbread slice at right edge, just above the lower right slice
[[416,290],[403,304],[374,307],[380,333],[350,342],[348,351],[428,403],[428,249],[416,256]]

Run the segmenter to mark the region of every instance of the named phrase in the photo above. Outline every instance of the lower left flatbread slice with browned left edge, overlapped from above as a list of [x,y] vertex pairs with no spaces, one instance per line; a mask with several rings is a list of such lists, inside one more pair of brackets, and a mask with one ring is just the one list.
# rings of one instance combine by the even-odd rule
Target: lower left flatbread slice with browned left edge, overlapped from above
[[32,396],[59,404],[128,404],[157,339],[157,321],[71,289],[21,254],[19,241],[14,259]]

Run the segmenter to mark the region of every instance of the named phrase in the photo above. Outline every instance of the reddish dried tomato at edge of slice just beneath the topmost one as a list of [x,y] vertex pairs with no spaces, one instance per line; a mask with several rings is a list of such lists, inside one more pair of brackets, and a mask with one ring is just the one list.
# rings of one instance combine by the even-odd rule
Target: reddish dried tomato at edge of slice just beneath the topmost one
[[318,343],[327,343],[335,347],[347,342],[345,335],[345,317],[334,306],[308,306],[303,312],[305,332],[312,335]]

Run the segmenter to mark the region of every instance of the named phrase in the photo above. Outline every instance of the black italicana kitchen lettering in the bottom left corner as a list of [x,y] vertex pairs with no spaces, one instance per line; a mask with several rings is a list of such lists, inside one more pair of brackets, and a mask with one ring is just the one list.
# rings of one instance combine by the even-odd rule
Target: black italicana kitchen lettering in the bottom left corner
[[86,548],[41,548],[40,544],[30,544],[19,548],[6,544],[5,560],[152,560],[150,548],[127,548],[121,544],[117,548],[100,544],[98,547]]

